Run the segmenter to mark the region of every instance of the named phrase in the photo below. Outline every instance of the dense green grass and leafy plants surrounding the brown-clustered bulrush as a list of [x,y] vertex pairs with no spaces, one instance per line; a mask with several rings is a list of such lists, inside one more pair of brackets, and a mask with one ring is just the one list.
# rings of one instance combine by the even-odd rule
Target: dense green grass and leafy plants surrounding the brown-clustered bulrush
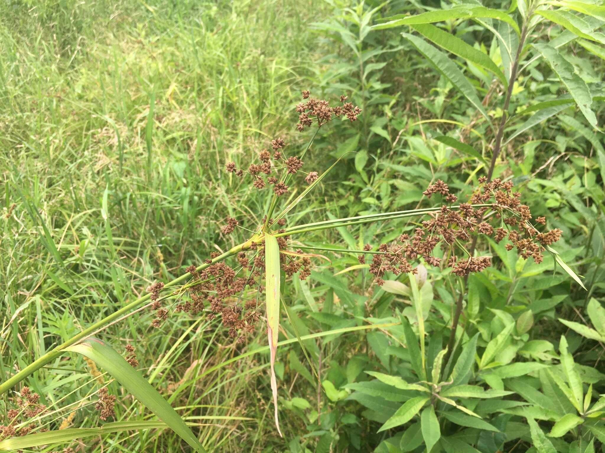
[[[5,1],[0,449],[194,451],[179,417],[151,408],[155,389],[206,451],[605,451],[605,6],[485,6]],[[295,127],[304,89],[332,106],[348,95],[362,113],[313,139]],[[237,341],[208,304],[177,312],[185,293],[164,293],[159,327],[135,301],[263,226],[271,186],[257,190],[225,164],[259,163],[278,137],[288,156],[312,141],[304,172],[339,159],[286,228],[364,223],[291,237],[292,251],[325,259],[311,257],[306,280],[259,276],[281,290],[280,314],[269,291],[243,292],[260,294],[263,317],[273,303],[272,367],[264,318]],[[310,187],[293,176],[275,215]],[[416,277],[387,272],[379,286],[373,255],[360,263],[344,251],[413,236],[436,214],[381,213],[436,213],[445,197],[427,187],[445,181],[466,202],[482,177],[513,183],[532,218],[545,217],[532,221],[539,231],[561,230],[543,261],[482,234],[459,249],[491,257],[482,272],[455,275],[451,251],[437,247],[439,265],[410,259]],[[490,205],[485,219],[496,228],[501,212]],[[230,235],[227,217],[239,222]],[[269,248],[267,269],[280,257]],[[128,304],[127,316],[101,322]],[[102,346],[55,354],[95,323]],[[107,358],[127,356],[126,345],[138,365],[122,379]],[[101,420],[105,387],[115,416]],[[47,410],[27,416],[23,401]],[[5,426],[27,432],[24,443],[11,444]],[[54,443],[36,443],[43,429]]]

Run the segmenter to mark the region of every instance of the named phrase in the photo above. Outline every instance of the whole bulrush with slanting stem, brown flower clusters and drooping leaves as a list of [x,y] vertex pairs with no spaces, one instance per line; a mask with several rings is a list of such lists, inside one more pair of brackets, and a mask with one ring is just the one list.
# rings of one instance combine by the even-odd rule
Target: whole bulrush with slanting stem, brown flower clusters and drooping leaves
[[[549,250],[549,246],[560,239],[560,230],[540,231],[540,226],[545,224],[544,217],[532,219],[529,207],[522,203],[521,195],[514,191],[511,181],[491,180],[486,176],[479,178],[479,184],[470,194],[468,202],[460,202],[459,195],[452,193],[445,182],[437,181],[424,192],[430,201],[436,202],[433,207],[287,225],[287,214],[338,163],[336,161],[322,173],[317,169],[307,171],[304,160],[318,131],[332,121],[353,122],[362,114],[361,109],[347,102],[344,95],[340,97],[338,106],[330,106],[328,100],[310,97],[309,91],[302,91],[302,98],[303,102],[295,108],[298,114],[296,129],[301,132],[314,129],[314,133],[300,153],[287,153],[285,140],[275,138],[267,149],[258,152],[258,159],[247,167],[238,168],[234,162],[226,163],[227,172],[234,173],[239,178],[248,178],[255,190],[260,193],[264,191],[268,197],[268,209],[264,217],[258,219],[254,231],[243,228],[234,217],[225,219],[222,233],[245,234],[246,240],[226,252],[212,252],[203,263],[189,266],[185,274],[172,281],[151,284],[143,297],[88,326],[16,372],[0,385],[0,394],[16,387],[65,352],[79,352],[96,362],[103,371],[110,373],[196,451],[204,451],[185,423],[179,423],[177,414],[166,400],[151,394],[151,386],[146,384],[134,368],[138,365],[134,348],[130,345],[126,347],[127,355],[124,359],[104,342],[91,338],[111,324],[139,311],[140,306],[145,304],[154,311],[152,326],[158,328],[162,327],[169,315],[189,313],[191,316],[206,316],[211,320],[220,317],[229,336],[241,343],[246,341],[246,334],[266,329],[275,423],[281,435],[277,417],[278,389],[273,366],[280,322],[281,273],[286,277],[298,274],[298,278],[304,280],[310,275],[313,261],[322,257],[315,251],[335,251],[330,248],[292,246],[291,237],[296,237],[301,242],[305,233],[320,230],[372,222],[392,222],[393,227],[397,228],[398,220],[417,219],[418,226],[413,234],[401,234],[392,243],[381,243],[379,246],[368,244],[362,250],[338,249],[341,253],[359,255],[360,263],[365,263],[366,256],[371,255],[370,272],[379,286],[384,283],[383,278],[387,273],[412,276],[417,272],[418,263],[442,270],[450,268],[458,277],[471,272],[482,272],[492,262],[488,252],[474,252],[479,236],[493,237],[496,242],[506,240],[509,251],[515,249],[523,258],[531,257],[537,263],[542,260],[543,253]],[[295,196],[297,184],[302,184],[303,188]],[[289,198],[284,195],[289,195]],[[457,309],[459,307],[452,307],[453,311]],[[457,317],[453,316],[453,319],[457,320]],[[454,323],[453,330],[456,327]],[[421,344],[424,345],[424,338],[421,338]],[[141,390],[143,387],[147,388],[145,391],[148,394],[144,393],[144,389]],[[27,387],[21,390],[23,397],[27,397],[25,389]],[[108,394],[105,387],[99,391],[99,395],[97,408],[102,411],[100,418],[111,417],[114,397]],[[18,402],[19,397],[15,400]],[[16,434],[11,428],[3,429],[5,437]]]

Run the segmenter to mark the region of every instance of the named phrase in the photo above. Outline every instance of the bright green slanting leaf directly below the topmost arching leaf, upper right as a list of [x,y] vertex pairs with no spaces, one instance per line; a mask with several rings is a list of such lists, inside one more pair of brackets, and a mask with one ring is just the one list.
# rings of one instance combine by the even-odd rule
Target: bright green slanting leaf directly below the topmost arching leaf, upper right
[[441,28],[437,28],[434,25],[418,24],[412,25],[411,27],[428,40],[436,43],[439,47],[444,48],[446,51],[493,72],[495,76],[500,79],[502,85],[508,88],[508,81],[506,80],[504,73],[495,65],[493,60],[482,51],[468,45],[459,37],[443,31]]

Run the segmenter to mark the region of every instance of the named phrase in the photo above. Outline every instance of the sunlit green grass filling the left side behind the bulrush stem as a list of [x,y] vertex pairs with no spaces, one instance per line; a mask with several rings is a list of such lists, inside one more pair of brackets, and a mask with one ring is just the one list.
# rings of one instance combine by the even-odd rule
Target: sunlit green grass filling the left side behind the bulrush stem
[[[294,130],[290,112],[314,55],[309,5],[8,6],[0,19],[2,214],[15,207],[0,226],[3,380],[149,282],[228,247],[225,216],[253,228],[260,201],[229,178],[224,161],[245,162]],[[204,445],[270,445],[269,400],[259,393],[268,382],[258,377],[265,358],[180,386],[240,348],[216,322],[175,316],[157,331],[150,321],[137,313],[103,338],[116,349],[135,345],[149,381],[188,421],[204,424]],[[41,419],[48,428],[76,408],[70,426],[96,426],[91,374],[70,361],[77,371],[57,370],[57,360],[27,382],[53,410],[64,408]],[[117,413],[120,421],[148,411],[123,395]],[[102,448],[169,451],[175,442],[169,430],[149,430],[108,436]],[[99,442],[87,444],[100,451]]]

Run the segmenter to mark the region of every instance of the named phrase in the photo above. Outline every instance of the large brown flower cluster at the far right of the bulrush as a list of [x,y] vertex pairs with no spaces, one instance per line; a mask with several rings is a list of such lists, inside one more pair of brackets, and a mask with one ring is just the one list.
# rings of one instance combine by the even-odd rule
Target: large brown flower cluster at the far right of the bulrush
[[[431,266],[449,267],[459,276],[481,272],[491,266],[491,257],[468,256],[468,244],[476,234],[493,236],[495,242],[502,241],[508,235],[511,243],[505,245],[507,250],[517,248],[518,254],[523,258],[532,257],[536,263],[540,263],[545,246],[561,239],[561,230],[555,228],[546,233],[538,232],[532,225],[529,207],[520,202],[520,193],[512,192],[511,181],[494,179],[487,182],[487,179],[482,177],[479,182],[480,187],[474,191],[470,203],[461,203],[455,207],[442,205],[440,211],[432,214],[430,220],[425,220],[422,226],[414,230],[413,236],[399,236],[401,244],[381,244],[378,248],[380,253],[375,254],[370,263],[370,272],[376,277],[376,283],[384,283],[382,277],[385,272],[393,272],[395,275],[414,272],[416,269],[411,267],[408,260],[417,257],[422,257]],[[450,203],[457,201],[457,196],[450,193],[448,185],[441,180],[431,184],[424,191],[428,198],[437,193]],[[486,206],[473,207],[480,204]],[[538,217],[534,222],[545,224],[546,219]],[[499,223],[499,226],[494,227],[492,223]],[[433,255],[439,244],[445,251],[443,261]],[[364,250],[370,251],[371,246],[366,245]],[[364,255],[359,255],[359,262],[365,263]]]

